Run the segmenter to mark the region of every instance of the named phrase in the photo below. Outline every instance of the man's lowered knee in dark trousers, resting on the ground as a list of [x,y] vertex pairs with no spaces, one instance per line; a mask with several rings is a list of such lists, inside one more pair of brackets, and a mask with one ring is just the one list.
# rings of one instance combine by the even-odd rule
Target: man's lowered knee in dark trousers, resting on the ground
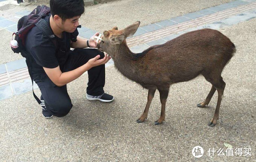
[[64,117],[69,113],[72,107],[71,102],[60,102],[49,105],[48,111],[56,117]]

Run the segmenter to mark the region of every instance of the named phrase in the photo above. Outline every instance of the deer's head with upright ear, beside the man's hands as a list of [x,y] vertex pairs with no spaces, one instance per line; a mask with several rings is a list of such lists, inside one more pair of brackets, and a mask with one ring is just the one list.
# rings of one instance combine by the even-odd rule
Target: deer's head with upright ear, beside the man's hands
[[120,45],[125,42],[127,37],[133,36],[140,25],[140,21],[126,27],[123,30],[118,30],[117,27],[113,27],[111,30],[105,30],[102,41],[98,43],[98,49],[100,51],[107,52],[112,58],[114,54],[120,48]]

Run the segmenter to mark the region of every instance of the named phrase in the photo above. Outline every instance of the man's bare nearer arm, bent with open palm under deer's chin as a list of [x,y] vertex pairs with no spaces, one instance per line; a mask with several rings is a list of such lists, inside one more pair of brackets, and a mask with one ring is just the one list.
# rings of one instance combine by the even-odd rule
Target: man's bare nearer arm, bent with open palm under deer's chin
[[107,56],[107,54],[105,54],[104,58],[98,60],[99,58],[100,55],[97,55],[96,57],[91,58],[87,63],[80,66],[79,68],[64,73],[61,72],[59,66],[53,69],[44,67],[43,68],[50,80],[52,80],[52,82],[56,84],[56,86],[61,87],[80,77],[84,72],[88,71],[92,67],[105,64],[111,59],[111,57]]

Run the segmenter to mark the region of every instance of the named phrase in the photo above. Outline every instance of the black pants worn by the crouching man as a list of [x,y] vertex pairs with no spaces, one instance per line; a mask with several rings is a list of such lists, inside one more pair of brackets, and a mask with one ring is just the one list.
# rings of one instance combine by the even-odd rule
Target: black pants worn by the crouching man
[[[104,53],[98,49],[74,49],[70,51],[69,57],[64,65],[62,72],[72,71],[84,65],[91,58]],[[67,93],[67,85],[58,87],[50,78],[44,74],[34,74],[34,81],[41,91],[41,100],[44,100],[45,107],[50,114],[56,117],[63,117],[69,113],[72,108],[72,102]],[[87,94],[91,96],[100,96],[104,93],[105,85],[105,65],[100,65],[88,70],[88,87]]]

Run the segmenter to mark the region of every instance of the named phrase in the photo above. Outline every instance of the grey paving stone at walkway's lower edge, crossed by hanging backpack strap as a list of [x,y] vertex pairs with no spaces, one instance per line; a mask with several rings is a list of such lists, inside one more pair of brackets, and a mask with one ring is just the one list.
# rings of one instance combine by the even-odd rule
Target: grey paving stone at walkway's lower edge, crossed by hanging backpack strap
[[[12,89],[14,95],[20,95],[32,91],[32,82],[30,79],[26,79],[23,82],[12,82]],[[34,89],[38,89],[37,84],[34,82]]]

